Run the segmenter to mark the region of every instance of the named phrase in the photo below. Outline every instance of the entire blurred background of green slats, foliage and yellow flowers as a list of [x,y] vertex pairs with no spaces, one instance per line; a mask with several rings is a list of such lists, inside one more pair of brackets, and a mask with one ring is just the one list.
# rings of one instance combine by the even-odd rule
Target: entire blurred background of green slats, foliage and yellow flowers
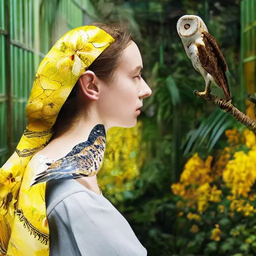
[[[107,133],[102,192],[148,256],[256,255],[256,137],[193,95],[204,80],[176,31],[199,15],[229,71],[233,104],[255,118],[256,0],[0,0],[0,165],[25,128],[37,67],[68,30],[129,25],[152,95],[133,128]],[[213,93],[222,96],[216,89]]]

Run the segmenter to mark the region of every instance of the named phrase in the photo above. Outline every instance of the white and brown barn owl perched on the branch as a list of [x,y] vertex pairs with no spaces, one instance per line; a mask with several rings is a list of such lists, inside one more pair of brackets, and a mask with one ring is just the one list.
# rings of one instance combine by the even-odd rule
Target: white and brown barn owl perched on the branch
[[210,93],[212,83],[212,85],[221,88],[226,100],[231,102],[225,75],[225,71],[228,69],[226,61],[203,20],[195,15],[184,15],[177,21],[177,32],[194,69],[205,80],[205,90],[197,93],[207,96]]

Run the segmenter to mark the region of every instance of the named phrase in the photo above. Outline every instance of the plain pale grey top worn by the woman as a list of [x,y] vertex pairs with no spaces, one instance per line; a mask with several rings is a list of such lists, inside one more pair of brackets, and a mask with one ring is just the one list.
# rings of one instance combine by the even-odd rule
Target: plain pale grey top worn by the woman
[[45,203],[50,256],[147,255],[112,203],[76,180],[48,181]]

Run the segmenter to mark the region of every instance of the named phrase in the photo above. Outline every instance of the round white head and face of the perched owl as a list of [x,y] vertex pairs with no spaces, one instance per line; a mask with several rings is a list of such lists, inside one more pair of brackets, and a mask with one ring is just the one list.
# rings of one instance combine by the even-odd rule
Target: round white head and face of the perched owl
[[202,19],[195,15],[184,15],[177,21],[177,32],[180,37],[191,36],[201,28],[205,30],[206,26]]

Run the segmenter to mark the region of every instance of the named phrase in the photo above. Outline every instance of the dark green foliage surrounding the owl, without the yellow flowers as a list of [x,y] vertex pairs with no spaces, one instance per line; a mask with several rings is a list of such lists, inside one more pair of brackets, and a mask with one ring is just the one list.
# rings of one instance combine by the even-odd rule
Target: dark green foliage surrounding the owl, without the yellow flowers
[[[253,234],[253,221],[240,217],[230,223],[228,212],[214,218],[211,213],[216,212],[216,205],[212,205],[197,223],[200,230],[191,233],[194,223],[185,217],[189,208],[177,217],[176,202],[180,198],[170,191],[187,158],[195,151],[205,156],[214,154],[216,148],[223,146],[223,132],[234,124],[232,117],[213,103],[194,96],[193,91],[203,90],[205,82],[185,53],[176,21],[183,14],[197,14],[204,19],[226,58],[233,102],[240,104],[243,95],[239,95],[238,4],[228,0],[135,0],[127,5],[134,10],[139,24],[141,38],[135,39],[143,59],[142,76],[152,95],[144,99],[140,115],[147,159],[135,180],[135,189],[123,192],[123,203],[116,206],[146,247],[148,256],[252,255],[254,241],[248,249],[244,239]],[[213,93],[222,96],[219,89]],[[210,239],[215,223],[221,226],[221,242]],[[240,228],[241,223],[251,231],[247,236],[233,237],[231,230]]]

